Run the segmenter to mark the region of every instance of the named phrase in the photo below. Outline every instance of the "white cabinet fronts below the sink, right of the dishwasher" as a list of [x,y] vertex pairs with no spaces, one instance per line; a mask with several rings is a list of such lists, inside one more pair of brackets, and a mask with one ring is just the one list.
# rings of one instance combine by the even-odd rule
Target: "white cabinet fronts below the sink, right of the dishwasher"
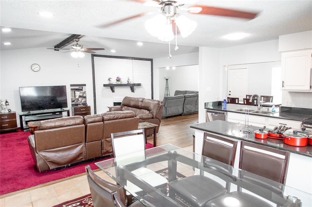
[[[227,121],[234,123],[245,123],[245,114],[243,113],[227,113]],[[292,129],[301,129],[300,121],[293,121],[281,118],[270,118],[270,117],[262,117],[255,116],[249,114],[249,124],[255,127],[263,127],[266,126],[267,129],[273,129],[274,127],[285,125],[286,127],[291,127]]]

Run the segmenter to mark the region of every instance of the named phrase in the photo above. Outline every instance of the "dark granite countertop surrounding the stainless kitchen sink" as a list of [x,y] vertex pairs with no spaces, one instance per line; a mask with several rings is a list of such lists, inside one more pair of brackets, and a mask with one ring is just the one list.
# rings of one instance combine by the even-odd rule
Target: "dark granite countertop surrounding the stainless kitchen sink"
[[[255,110],[258,109],[257,106],[246,106],[246,105],[240,105],[240,104],[227,104],[226,109],[223,109],[222,106],[218,105],[215,102],[205,103],[206,109],[217,110],[217,111],[227,111],[227,112],[233,112],[233,113],[243,113],[243,114],[245,114],[245,112],[233,111],[233,109],[246,108],[246,107],[249,107],[250,109],[255,109]],[[263,107],[262,110],[264,110],[266,108],[268,108],[268,107]],[[269,110],[271,111],[271,108],[269,108]],[[272,118],[282,118],[282,119],[288,119],[288,120],[294,120],[294,121],[302,122],[302,120],[312,117],[311,111],[312,111],[312,109],[298,108],[298,110],[293,110],[291,107],[276,107],[276,112],[272,113],[272,114],[249,113],[249,115],[272,117]]]

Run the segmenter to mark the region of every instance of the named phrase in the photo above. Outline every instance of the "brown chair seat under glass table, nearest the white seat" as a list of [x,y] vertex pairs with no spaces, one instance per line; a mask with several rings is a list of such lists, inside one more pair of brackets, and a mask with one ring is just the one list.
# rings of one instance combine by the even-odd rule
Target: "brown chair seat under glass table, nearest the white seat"
[[[169,189],[179,191],[178,195],[194,206],[204,206],[207,201],[227,193],[221,184],[203,175],[174,180],[169,182],[169,186]],[[201,193],[195,195],[194,192]]]

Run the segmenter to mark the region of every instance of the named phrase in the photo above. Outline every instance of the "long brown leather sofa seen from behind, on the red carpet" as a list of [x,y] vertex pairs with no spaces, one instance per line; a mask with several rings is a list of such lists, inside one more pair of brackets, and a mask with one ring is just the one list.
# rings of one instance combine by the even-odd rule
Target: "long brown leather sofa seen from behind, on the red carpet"
[[61,117],[41,121],[28,137],[39,172],[113,154],[110,133],[138,129],[132,111]]

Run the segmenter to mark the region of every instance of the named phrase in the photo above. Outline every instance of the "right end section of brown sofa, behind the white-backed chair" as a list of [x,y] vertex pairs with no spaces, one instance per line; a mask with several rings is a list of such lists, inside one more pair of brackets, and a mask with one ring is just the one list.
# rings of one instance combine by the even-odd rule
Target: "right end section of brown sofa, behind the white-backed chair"
[[139,117],[133,111],[116,111],[102,113],[104,128],[102,139],[102,156],[113,154],[111,133],[137,130]]

